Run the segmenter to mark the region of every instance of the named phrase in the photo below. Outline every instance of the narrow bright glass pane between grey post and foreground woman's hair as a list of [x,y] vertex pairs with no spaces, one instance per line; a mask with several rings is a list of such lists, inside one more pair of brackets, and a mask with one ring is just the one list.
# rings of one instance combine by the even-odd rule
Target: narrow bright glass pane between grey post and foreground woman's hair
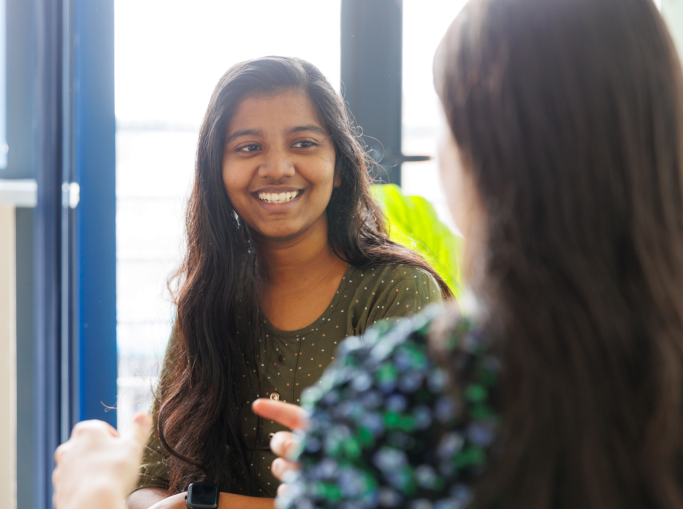
[[[441,38],[465,0],[403,1],[403,153],[436,157],[439,99],[434,91],[432,59]],[[428,199],[439,217],[455,228],[441,189],[435,160],[405,163],[401,182],[407,194]]]

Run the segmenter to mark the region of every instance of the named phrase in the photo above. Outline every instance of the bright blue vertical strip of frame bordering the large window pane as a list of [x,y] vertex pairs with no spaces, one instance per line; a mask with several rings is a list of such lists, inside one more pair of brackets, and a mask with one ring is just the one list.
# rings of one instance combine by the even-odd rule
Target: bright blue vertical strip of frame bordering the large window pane
[[76,420],[116,426],[114,1],[74,1]]

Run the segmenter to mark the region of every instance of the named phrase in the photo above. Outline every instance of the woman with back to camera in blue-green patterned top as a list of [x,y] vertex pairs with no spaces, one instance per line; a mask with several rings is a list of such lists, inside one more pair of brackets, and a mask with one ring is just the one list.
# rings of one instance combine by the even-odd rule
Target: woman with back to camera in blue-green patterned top
[[278,506],[683,508],[683,78],[658,9],[471,0],[435,85],[476,304],[347,340],[308,421],[254,404],[308,428],[298,465],[272,442]]

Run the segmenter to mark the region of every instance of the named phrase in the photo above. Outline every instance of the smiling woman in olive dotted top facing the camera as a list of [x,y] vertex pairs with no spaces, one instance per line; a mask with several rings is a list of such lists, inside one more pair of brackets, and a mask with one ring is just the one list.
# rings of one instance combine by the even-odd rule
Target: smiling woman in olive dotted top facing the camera
[[345,337],[451,296],[388,240],[368,164],[313,65],[265,57],[221,78],[199,135],[177,320],[131,509],[184,507],[198,482],[218,486],[221,507],[271,507],[270,436],[285,428],[251,403],[298,404]]

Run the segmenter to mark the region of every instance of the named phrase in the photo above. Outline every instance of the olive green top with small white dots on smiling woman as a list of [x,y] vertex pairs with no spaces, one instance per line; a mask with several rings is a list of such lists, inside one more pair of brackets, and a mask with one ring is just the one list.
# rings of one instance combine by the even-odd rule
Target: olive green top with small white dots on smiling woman
[[[295,331],[281,331],[261,315],[261,334],[257,368],[260,390],[258,397],[270,397],[298,404],[301,392],[316,383],[332,362],[337,345],[347,336],[360,336],[379,320],[398,321],[433,302],[442,300],[441,290],[427,272],[412,267],[388,265],[361,269],[350,265],[327,310],[311,325]],[[173,341],[173,338],[171,338]],[[173,362],[167,348],[162,373]],[[280,484],[270,472],[276,456],[270,451],[270,436],[286,430],[274,421],[257,419],[251,411],[248,382],[238,392],[245,396],[244,437],[252,450],[252,476],[259,482],[259,496],[274,497]],[[152,417],[156,422],[157,408]],[[137,489],[168,489],[166,451],[161,447],[153,427],[143,456],[142,474]]]

